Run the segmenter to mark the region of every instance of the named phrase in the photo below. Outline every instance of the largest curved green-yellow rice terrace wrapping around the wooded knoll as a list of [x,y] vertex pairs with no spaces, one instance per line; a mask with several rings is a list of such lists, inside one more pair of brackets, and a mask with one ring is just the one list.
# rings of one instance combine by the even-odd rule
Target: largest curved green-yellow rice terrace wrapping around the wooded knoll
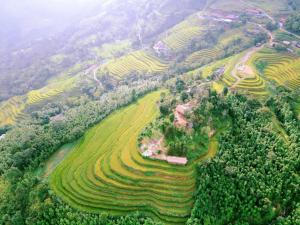
[[[109,116],[86,133],[53,172],[51,186],[71,206],[125,215],[135,210],[183,224],[193,206],[195,170],[143,158],[137,137],[157,115],[159,91]],[[206,157],[214,155],[212,141]]]

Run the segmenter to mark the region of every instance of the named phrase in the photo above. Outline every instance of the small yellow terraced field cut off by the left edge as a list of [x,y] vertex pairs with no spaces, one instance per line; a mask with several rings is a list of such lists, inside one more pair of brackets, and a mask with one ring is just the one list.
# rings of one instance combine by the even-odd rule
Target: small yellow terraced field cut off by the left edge
[[0,126],[6,124],[13,124],[19,118],[24,116],[22,114],[25,108],[22,97],[13,97],[0,104]]

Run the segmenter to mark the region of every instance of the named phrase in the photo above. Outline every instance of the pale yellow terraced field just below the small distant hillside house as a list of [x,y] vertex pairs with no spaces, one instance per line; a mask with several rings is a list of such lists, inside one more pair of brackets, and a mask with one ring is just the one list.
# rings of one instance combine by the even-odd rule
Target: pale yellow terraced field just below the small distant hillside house
[[111,60],[102,66],[101,70],[109,72],[113,76],[122,78],[130,72],[154,73],[162,72],[168,68],[166,63],[161,62],[154,56],[143,51],[135,51],[118,59]]

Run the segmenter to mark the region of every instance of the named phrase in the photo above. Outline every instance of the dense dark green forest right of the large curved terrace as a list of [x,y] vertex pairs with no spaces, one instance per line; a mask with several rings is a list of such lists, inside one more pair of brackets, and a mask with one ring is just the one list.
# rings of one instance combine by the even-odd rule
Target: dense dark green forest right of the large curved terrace
[[215,109],[227,109],[232,126],[221,135],[217,156],[198,166],[187,224],[299,224],[300,124],[291,95],[264,104],[241,95],[218,98]]

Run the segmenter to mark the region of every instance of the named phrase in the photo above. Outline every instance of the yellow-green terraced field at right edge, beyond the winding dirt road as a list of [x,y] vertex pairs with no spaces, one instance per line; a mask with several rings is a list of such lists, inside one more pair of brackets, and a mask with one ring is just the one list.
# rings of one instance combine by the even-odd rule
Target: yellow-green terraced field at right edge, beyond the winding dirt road
[[267,62],[264,72],[267,79],[274,80],[278,85],[291,90],[300,87],[300,58],[262,50],[255,55],[254,60]]

